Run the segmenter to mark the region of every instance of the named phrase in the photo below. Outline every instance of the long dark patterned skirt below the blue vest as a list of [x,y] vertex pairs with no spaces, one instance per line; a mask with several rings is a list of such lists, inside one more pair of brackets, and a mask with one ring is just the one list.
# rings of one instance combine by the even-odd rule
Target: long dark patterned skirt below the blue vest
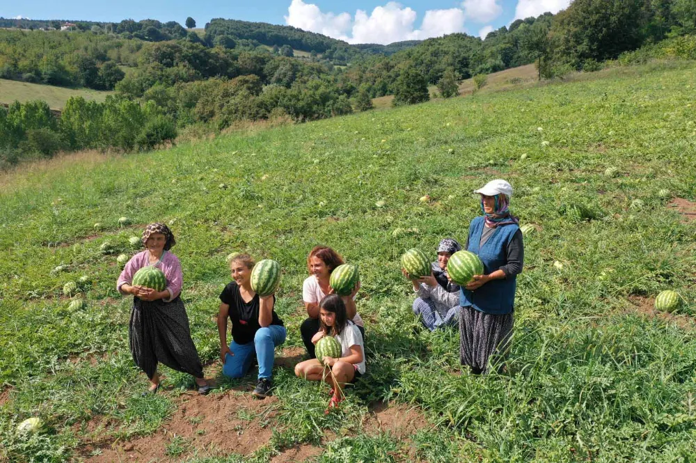
[[512,337],[512,313],[491,315],[472,306],[459,312],[459,359],[476,374],[489,372],[491,356],[505,356]]

